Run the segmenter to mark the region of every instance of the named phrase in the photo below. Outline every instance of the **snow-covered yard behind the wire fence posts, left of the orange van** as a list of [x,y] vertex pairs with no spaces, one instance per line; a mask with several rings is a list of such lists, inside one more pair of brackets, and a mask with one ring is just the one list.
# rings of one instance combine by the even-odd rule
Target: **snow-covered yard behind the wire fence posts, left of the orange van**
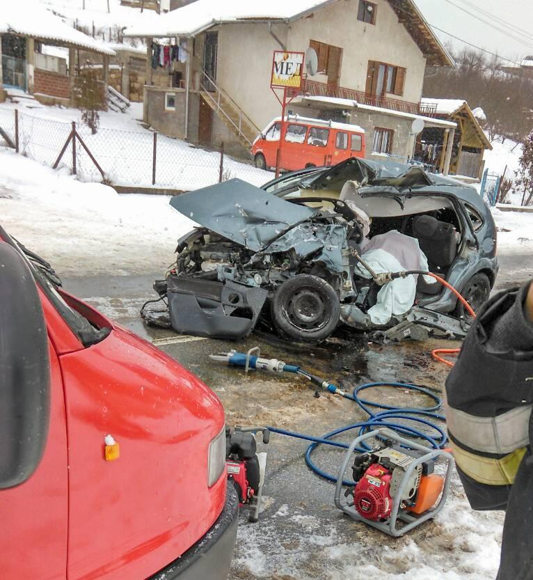
[[[141,125],[141,103],[132,103],[125,113],[100,113],[100,129],[91,134],[81,123],[79,109],[45,107],[34,100],[21,98],[18,103],[0,104],[0,127],[14,139],[14,109],[19,109],[19,141],[21,152],[31,159],[52,166],[71,130],[77,131],[102,166],[106,179],[115,185],[152,187],[153,133]],[[1,143],[1,139],[0,139]],[[155,187],[171,187],[189,191],[218,182],[220,153],[205,150],[168,136],[157,136]],[[72,168],[72,148],[67,148],[61,166]],[[101,181],[102,176],[87,153],[77,146],[78,178]],[[253,185],[263,185],[273,178],[251,164],[238,162],[225,155],[225,178],[240,178]]]

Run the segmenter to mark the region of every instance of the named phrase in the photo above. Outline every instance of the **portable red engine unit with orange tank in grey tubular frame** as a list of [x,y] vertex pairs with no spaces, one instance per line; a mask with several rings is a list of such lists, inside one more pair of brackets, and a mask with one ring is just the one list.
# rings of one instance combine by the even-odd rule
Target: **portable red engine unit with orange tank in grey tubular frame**
[[[356,453],[353,483],[341,499],[344,473],[354,451],[367,439],[379,446]],[[439,459],[447,462],[444,476],[434,473]],[[381,428],[360,435],[349,446],[342,463],[335,505],[345,514],[389,535],[399,537],[434,517],[444,507],[454,459],[442,449],[431,449]],[[403,524],[397,526],[398,521]]]

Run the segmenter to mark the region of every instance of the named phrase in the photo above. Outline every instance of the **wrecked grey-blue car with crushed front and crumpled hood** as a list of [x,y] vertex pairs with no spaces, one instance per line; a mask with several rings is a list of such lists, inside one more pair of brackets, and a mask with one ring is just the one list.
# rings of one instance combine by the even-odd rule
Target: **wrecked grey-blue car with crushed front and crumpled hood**
[[229,180],[170,205],[199,225],[154,284],[168,310],[143,316],[183,334],[242,338],[262,320],[310,342],[339,324],[388,340],[462,338],[470,320],[450,290],[387,272],[414,260],[474,310],[498,272],[495,225],[477,191],[415,166],[347,159],[262,188]]

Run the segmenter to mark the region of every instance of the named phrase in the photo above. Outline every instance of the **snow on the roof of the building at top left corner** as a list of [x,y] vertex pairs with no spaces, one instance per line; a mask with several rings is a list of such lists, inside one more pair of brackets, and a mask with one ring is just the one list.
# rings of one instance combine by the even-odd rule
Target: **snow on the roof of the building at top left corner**
[[3,3],[0,11],[0,34],[16,33],[59,44],[83,47],[94,52],[114,55],[102,42],[83,34],[49,10],[31,0]]

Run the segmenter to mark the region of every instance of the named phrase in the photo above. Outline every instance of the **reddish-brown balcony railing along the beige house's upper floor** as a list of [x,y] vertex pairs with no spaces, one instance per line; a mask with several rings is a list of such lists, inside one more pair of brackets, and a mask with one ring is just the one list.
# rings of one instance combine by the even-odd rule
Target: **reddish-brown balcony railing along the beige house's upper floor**
[[436,104],[422,104],[401,101],[399,99],[389,99],[379,97],[378,95],[355,91],[353,88],[344,88],[342,86],[319,83],[317,81],[310,81],[309,79],[303,80],[300,94],[310,97],[336,97],[337,99],[348,99],[372,107],[381,107],[381,109],[392,109],[393,111],[401,111],[402,113],[411,113],[414,115],[424,115],[427,117],[434,117],[437,113]]

